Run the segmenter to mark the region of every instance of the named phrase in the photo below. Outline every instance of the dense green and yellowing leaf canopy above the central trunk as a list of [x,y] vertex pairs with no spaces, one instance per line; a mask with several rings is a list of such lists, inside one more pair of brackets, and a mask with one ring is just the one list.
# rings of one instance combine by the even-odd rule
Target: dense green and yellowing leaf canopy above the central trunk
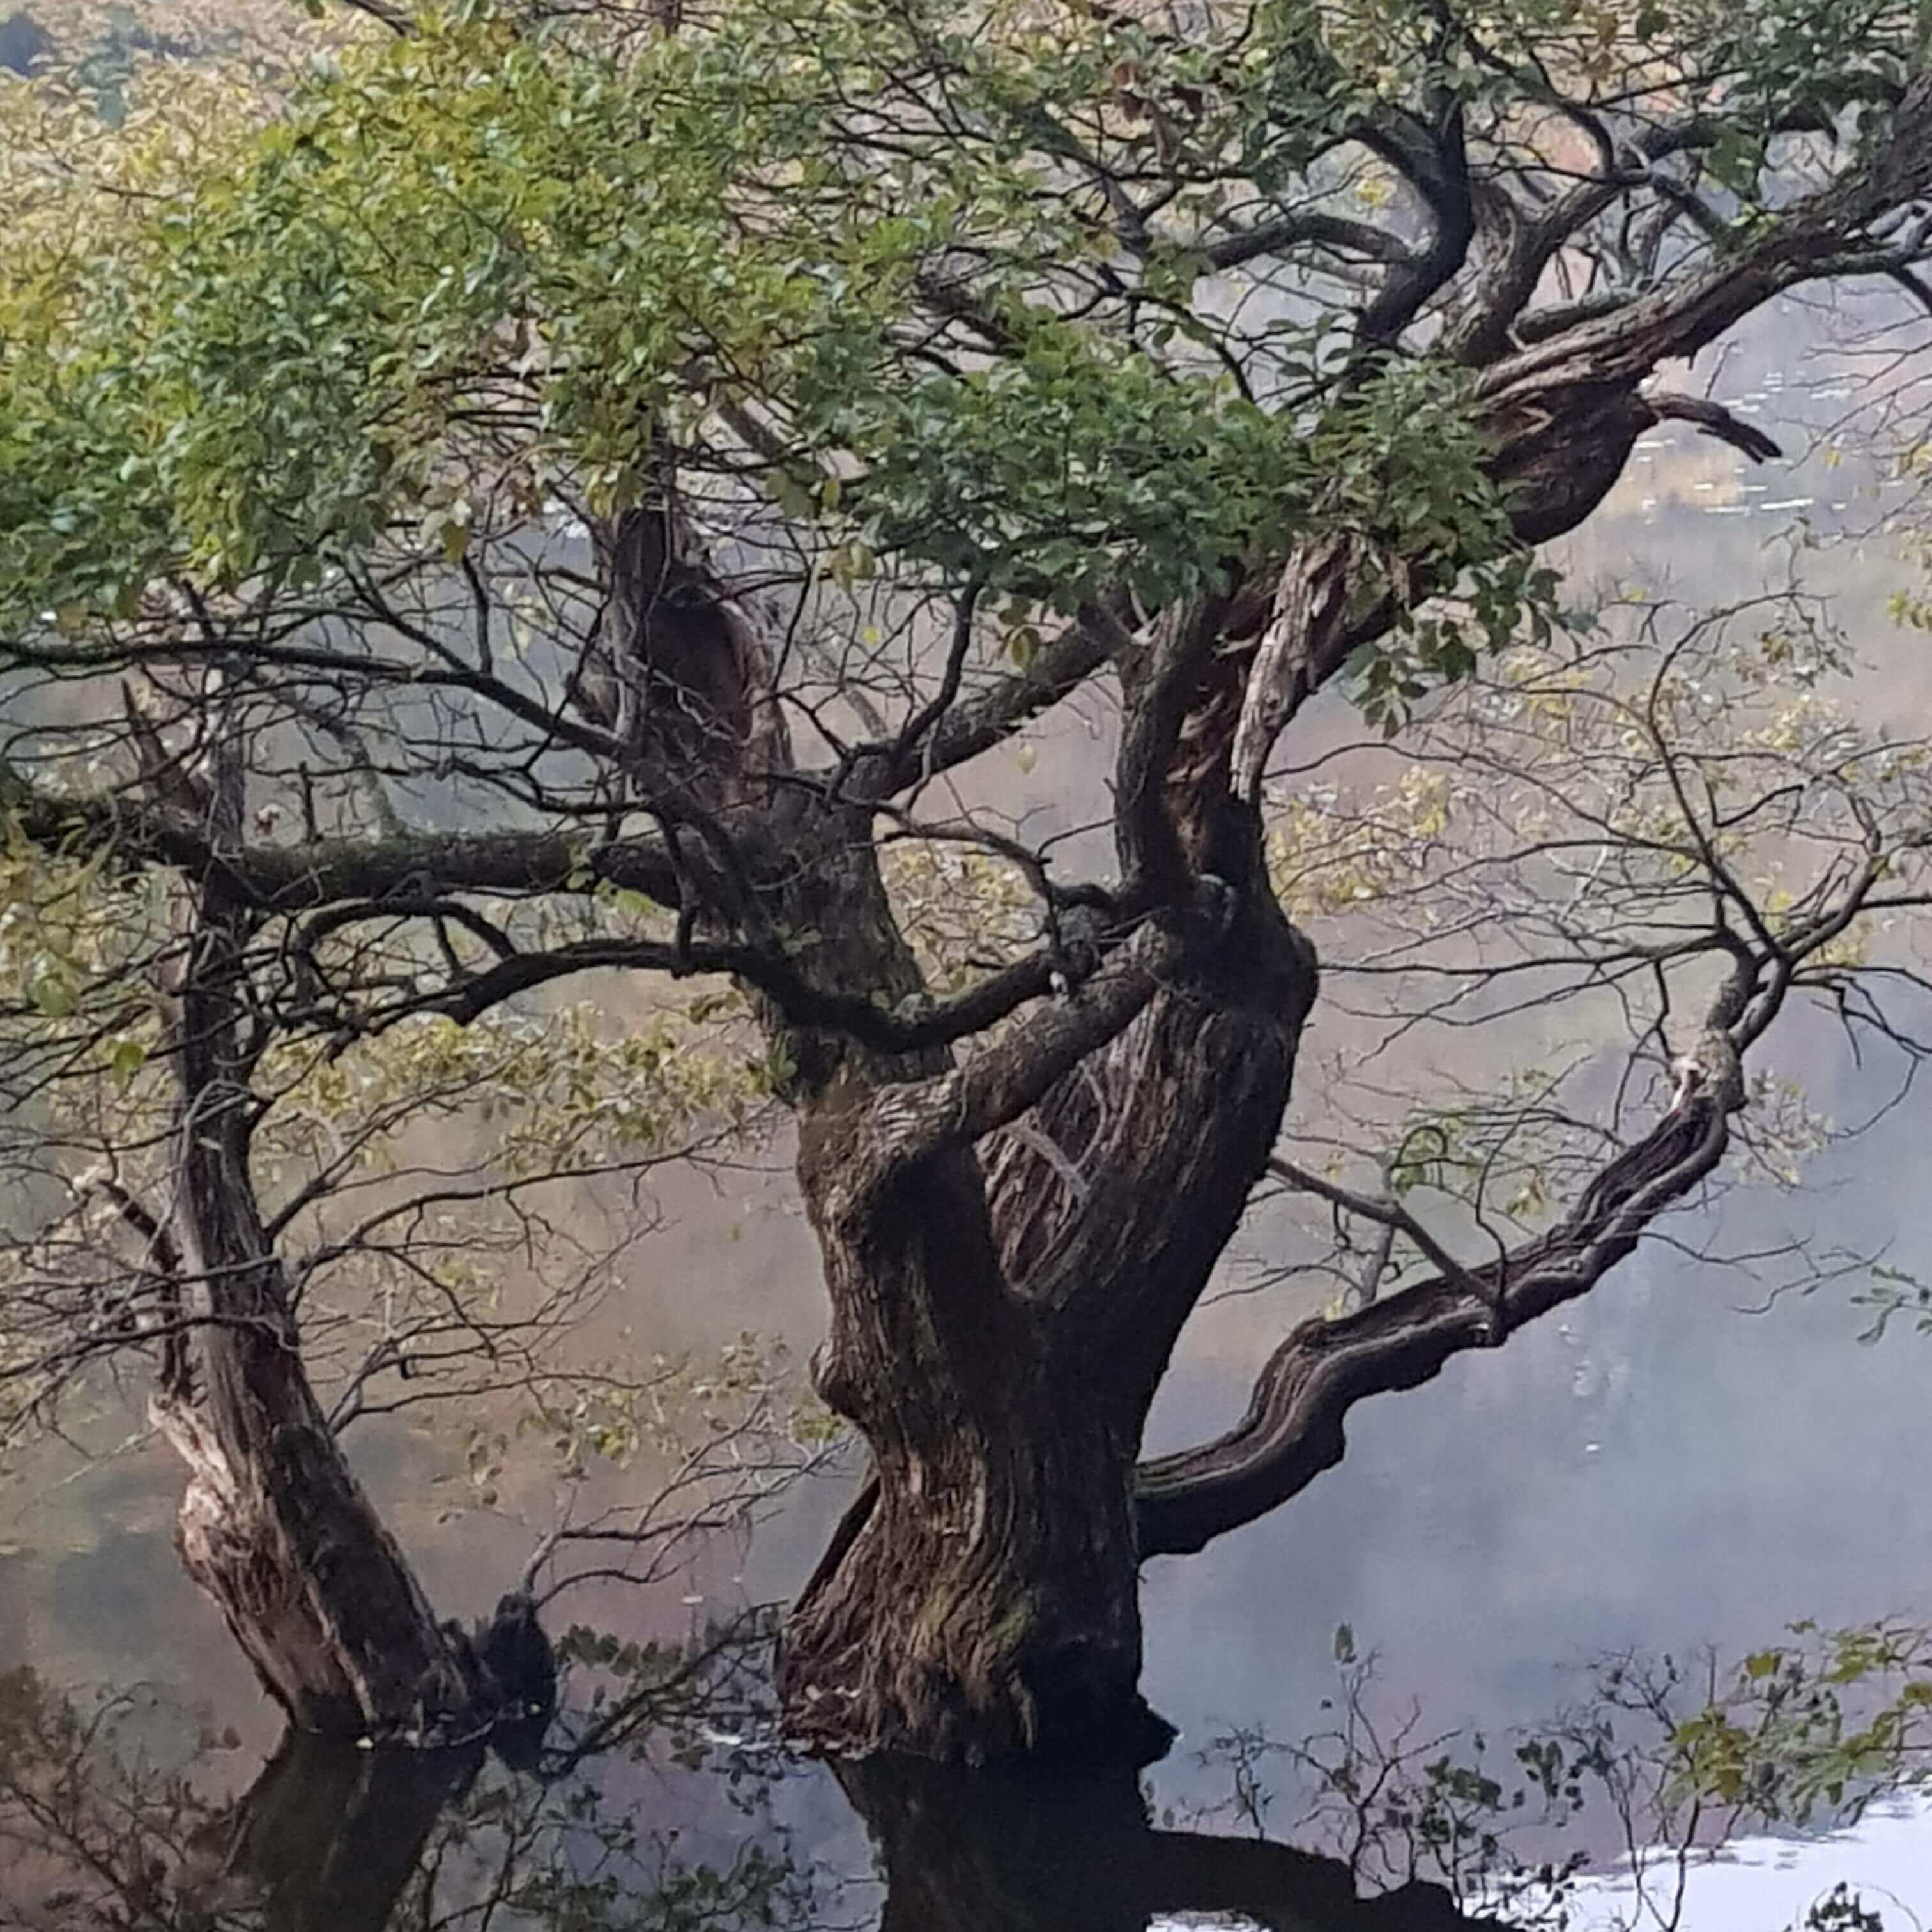
[[[1298,17],[1225,81],[1258,176],[1347,110],[1269,50]],[[1331,325],[1275,321],[1258,383],[1192,315],[1179,247],[1146,323],[1070,307],[1065,269],[1117,243],[1059,129],[1092,112],[1128,139],[1111,75],[1150,46],[1078,10],[792,0],[622,62],[477,6],[342,50],[116,245],[8,270],[6,620],[129,616],[174,572],[299,587],[452,483],[609,510],[655,439],[748,404],[771,498],[835,524],[858,572],[929,562],[1061,609],[1124,572],[1161,601],[1323,485],[1466,537],[1453,377],[1397,365],[1294,408],[1343,354]],[[1200,60],[1171,66],[1188,85]],[[908,323],[952,259],[1001,355],[949,363]],[[458,554],[462,516],[427,537]]]

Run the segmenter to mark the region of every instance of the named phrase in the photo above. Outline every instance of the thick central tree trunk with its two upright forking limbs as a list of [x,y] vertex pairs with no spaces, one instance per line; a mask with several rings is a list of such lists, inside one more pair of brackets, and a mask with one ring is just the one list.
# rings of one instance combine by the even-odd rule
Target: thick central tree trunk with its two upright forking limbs
[[[667,533],[694,543],[674,504],[618,524],[612,582],[703,580],[696,549],[667,560]],[[773,784],[782,736],[728,697],[734,678],[755,696],[773,653],[746,611],[715,611],[705,628],[667,597],[614,595],[580,703],[634,734],[630,782],[686,858],[688,929],[782,943],[811,995],[767,981],[757,1010],[825,1260],[815,1379],[873,1476],[786,1623],[792,1729],[848,1756],[1146,1760],[1171,1731],[1138,1692],[1142,1426],[1273,1148],[1314,995],[1258,819],[1229,794],[1225,607],[1177,609],[1121,663],[1122,885],[1070,943],[1068,983],[964,1065],[813,1018],[923,991],[873,838],[902,748],[850,792]],[[1111,636],[1101,612],[1092,634]],[[638,717],[707,728],[628,724],[624,692]],[[937,728],[920,715],[902,738]]]

